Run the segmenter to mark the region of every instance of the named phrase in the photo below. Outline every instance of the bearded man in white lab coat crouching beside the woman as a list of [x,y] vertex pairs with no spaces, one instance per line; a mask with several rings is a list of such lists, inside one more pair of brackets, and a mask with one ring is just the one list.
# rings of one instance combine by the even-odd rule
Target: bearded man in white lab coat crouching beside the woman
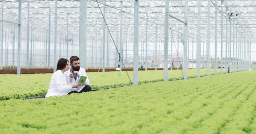
[[[67,72],[64,72],[64,77],[67,80],[67,83],[78,83],[80,76],[86,76],[85,69],[80,67],[80,59],[77,56],[70,57],[70,69]],[[71,79],[69,78],[71,77]],[[91,91],[91,86],[89,85],[89,79],[85,80],[85,84],[78,88],[72,88],[68,94],[71,93],[82,93]]]

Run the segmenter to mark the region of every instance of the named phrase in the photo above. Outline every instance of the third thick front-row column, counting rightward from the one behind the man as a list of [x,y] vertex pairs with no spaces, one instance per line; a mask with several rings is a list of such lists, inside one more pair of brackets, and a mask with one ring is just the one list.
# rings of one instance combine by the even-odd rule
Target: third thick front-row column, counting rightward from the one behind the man
[[165,35],[164,35],[164,80],[168,80],[168,37],[169,37],[169,0],[165,0]]

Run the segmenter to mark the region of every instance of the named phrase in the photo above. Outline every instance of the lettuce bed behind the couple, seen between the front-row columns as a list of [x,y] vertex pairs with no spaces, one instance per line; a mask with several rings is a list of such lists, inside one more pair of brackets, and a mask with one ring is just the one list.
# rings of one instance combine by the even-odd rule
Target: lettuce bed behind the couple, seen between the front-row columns
[[[169,70],[169,79],[182,78],[182,70]],[[214,73],[214,70],[211,70]],[[189,70],[188,76],[196,76],[197,70]],[[202,75],[206,70],[201,71]],[[0,75],[0,101],[11,98],[27,98],[45,95],[47,93],[52,74],[33,75]],[[88,72],[90,85],[93,89],[119,85],[130,85],[133,72]],[[154,82],[163,80],[163,70],[139,71],[139,82]]]

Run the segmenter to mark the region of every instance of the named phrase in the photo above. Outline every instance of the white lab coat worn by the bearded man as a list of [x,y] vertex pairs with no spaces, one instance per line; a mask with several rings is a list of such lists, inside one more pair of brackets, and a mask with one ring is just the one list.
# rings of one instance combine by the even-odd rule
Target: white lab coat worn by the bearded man
[[[69,75],[71,74],[71,72],[70,72],[71,69],[72,68],[70,68],[67,72],[64,72],[64,76],[66,78],[67,83],[69,83]],[[85,80],[85,85],[89,85],[89,78],[86,75],[85,69],[80,67],[79,74],[80,74],[80,76],[86,76],[87,77],[86,80]],[[72,80],[72,85],[78,83],[79,79],[80,79],[80,77],[77,77],[77,80],[75,80],[75,78],[74,78]],[[70,91],[80,92],[83,89],[83,87],[85,87],[85,85],[82,85],[81,87],[78,87],[78,88],[72,88],[72,90],[70,90]]]

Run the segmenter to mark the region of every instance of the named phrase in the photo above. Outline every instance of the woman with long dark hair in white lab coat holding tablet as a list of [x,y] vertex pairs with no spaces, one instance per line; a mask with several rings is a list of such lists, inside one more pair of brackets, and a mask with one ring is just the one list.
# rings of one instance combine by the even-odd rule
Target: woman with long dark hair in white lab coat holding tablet
[[[45,97],[67,95],[72,88],[78,88],[81,86],[79,83],[74,85],[71,85],[72,83],[67,83],[63,75],[64,72],[69,70],[69,61],[67,59],[59,59],[56,70],[57,71],[54,72],[51,77],[50,86]],[[73,78],[74,76],[70,75],[69,81],[72,81]]]

